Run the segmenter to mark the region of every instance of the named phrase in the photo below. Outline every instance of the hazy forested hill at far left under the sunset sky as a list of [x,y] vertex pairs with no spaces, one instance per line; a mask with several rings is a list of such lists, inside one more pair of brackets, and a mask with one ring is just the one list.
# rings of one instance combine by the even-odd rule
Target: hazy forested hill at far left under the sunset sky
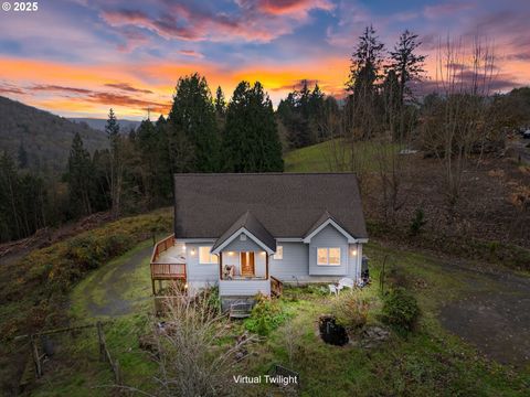
[[75,132],[81,135],[91,153],[108,146],[105,133],[86,124],[72,122],[51,112],[0,97],[0,152],[7,151],[18,160],[19,151],[23,148],[29,169],[45,174],[63,173]]

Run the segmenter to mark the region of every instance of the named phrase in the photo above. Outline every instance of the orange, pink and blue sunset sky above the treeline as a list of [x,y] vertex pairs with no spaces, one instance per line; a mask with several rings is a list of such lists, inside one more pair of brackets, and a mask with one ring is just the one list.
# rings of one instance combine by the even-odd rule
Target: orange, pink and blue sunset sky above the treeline
[[[3,0],[2,0],[3,2]],[[8,1],[13,4],[13,1]],[[167,115],[180,76],[204,75],[227,98],[259,81],[274,104],[318,82],[343,95],[351,53],[373,24],[392,50],[409,29],[435,84],[441,42],[495,49],[495,89],[530,84],[530,1],[43,0],[0,10],[0,96],[64,117]]]

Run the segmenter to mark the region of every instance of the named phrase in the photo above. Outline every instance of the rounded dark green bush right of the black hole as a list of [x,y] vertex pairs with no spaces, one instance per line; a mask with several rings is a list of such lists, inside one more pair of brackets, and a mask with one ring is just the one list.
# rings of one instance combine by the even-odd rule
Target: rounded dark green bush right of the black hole
[[395,288],[384,297],[382,314],[386,324],[411,331],[420,315],[420,308],[414,296],[403,288]]

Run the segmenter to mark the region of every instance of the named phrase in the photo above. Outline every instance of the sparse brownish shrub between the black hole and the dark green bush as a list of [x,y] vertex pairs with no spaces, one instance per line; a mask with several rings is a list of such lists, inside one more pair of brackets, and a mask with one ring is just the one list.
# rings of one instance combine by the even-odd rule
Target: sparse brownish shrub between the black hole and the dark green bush
[[353,292],[346,292],[340,296],[333,307],[333,315],[340,325],[348,331],[359,331],[368,319],[370,309],[365,298],[357,297]]

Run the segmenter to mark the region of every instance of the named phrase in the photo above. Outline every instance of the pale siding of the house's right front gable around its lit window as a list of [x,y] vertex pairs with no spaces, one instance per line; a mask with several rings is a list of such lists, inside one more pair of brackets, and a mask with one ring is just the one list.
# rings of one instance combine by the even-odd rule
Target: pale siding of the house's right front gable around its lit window
[[[333,226],[321,229],[309,243],[309,275],[310,276],[348,276],[349,250],[348,239]],[[340,248],[339,266],[317,265],[317,248]]]

